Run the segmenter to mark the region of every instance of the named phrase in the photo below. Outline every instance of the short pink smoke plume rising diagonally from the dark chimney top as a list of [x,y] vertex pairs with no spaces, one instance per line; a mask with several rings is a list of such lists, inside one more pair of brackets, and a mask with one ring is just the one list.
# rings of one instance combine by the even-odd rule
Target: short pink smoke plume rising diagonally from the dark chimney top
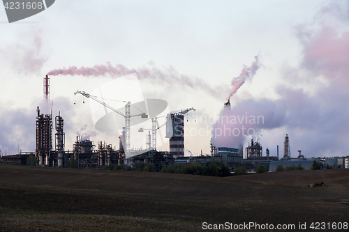
[[250,79],[252,79],[255,75],[255,72],[257,72],[257,70],[260,68],[260,64],[258,63],[258,56],[255,56],[255,61],[251,63],[250,67],[246,67],[246,65],[244,65],[244,68],[242,69],[239,77],[232,79],[232,90],[228,94],[227,101],[229,101],[230,97],[237,92],[242,84],[245,83],[246,78],[249,77]]

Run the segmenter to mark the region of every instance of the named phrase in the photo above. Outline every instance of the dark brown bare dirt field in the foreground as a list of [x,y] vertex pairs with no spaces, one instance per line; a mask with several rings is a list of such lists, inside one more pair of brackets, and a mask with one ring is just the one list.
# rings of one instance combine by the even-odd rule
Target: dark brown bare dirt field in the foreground
[[204,222],[312,231],[348,215],[349,169],[220,178],[0,165],[0,231],[205,231]]

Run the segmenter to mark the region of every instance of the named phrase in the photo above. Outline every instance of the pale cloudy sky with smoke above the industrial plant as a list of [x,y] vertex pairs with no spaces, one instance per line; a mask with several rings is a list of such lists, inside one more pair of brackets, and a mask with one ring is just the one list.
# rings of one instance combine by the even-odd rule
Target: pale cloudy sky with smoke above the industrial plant
[[[285,134],[291,157],[348,155],[348,1],[57,0],[11,24],[0,7],[0,31],[2,154],[35,150],[38,106],[61,112],[66,150],[77,135],[118,147],[119,132],[95,128],[96,104],[73,93],[135,72],[144,99],[195,108],[184,117],[186,155],[210,153],[211,138],[234,148],[255,139],[276,155]],[[54,72],[64,68],[75,72]],[[43,100],[47,73],[53,103]],[[120,86],[127,93],[105,95],[139,94]],[[145,135],[131,133],[131,148],[145,148]]]

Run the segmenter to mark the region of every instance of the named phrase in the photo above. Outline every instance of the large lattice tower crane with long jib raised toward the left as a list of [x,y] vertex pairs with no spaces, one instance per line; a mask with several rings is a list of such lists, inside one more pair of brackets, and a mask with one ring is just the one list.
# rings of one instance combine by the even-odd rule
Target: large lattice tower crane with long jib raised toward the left
[[[107,107],[108,109],[114,111],[115,113],[123,116],[125,118],[125,142],[126,142],[126,150],[125,150],[125,154],[126,157],[130,155],[130,119],[131,117],[134,116],[142,116],[142,118],[148,118],[148,115],[143,113],[141,111],[142,114],[135,114],[135,115],[131,115],[130,112],[130,107],[131,107],[131,102],[127,102],[125,105],[125,114],[121,113],[120,111],[118,111],[117,109],[114,109],[113,107],[110,107],[110,105],[105,104],[105,102],[101,101],[98,99],[97,96],[94,95],[89,95],[89,93],[86,93],[84,91],[76,91],[74,94],[76,95],[77,93],[80,93],[81,95],[83,95],[86,98],[91,98],[92,100],[95,100],[96,102],[100,103],[101,105]],[[126,102],[126,101],[124,101]]]

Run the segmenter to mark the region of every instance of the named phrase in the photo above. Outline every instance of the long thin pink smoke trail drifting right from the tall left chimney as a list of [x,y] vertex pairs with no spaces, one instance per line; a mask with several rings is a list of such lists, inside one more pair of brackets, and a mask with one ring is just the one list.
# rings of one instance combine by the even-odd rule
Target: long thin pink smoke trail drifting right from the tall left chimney
[[68,68],[54,69],[47,72],[47,75],[82,75],[82,76],[104,76],[112,75],[116,77],[121,77],[131,73],[137,73],[139,79],[153,79],[159,82],[159,84],[178,84],[188,86],[193,89],[200,89],[205,91],[205,93],[214,96],[214,98],[221,98],[221,95],[225,89],[222,87],[211,87],[209,84],[205,83],[202,79],[198,77],[188,77],[187,75],[181,75],[172,66],[169,68],[159,69],[154,65],[151,68],[140,67],[140,68],[127,68],[124,65],[117,64],[112,65],[107,62],[106,65],[94,65],[94,67],[80,67],[70,66]]

